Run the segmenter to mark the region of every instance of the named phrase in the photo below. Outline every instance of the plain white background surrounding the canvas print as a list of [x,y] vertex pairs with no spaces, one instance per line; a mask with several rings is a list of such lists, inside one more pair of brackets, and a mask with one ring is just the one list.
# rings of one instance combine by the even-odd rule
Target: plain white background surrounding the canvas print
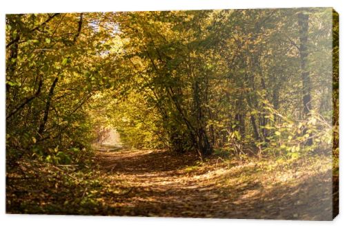
[[[39,216],[39,215],[6,215],[5,214],[5,14],[29,12],[98,12],[98,11],[136,11],[136,10],[201,10],[225,8],[291,8],[327,6],[339,12],[340,20],[340,117],[344,114],[344,36],[343,17],[345,1],[342,0],[12,0],[0,3],[0,228],[1,229],[343,229],[345,226],[344,209],[344,175],[342,167],[344,157],[345,123],[340,119],[340,213],[333,222],[277,221],[277,220],[219,220],[219,219],[186,219],[186,218],[124,218],[94,216]],[[344,43],[345,44],[345,43]]]

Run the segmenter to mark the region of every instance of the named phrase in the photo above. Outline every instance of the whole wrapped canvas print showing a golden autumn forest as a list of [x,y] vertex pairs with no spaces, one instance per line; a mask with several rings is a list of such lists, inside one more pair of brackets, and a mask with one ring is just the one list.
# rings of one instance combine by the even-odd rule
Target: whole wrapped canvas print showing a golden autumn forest
[[7,14],[6,212],[332,220],[338,30],[332,8]]

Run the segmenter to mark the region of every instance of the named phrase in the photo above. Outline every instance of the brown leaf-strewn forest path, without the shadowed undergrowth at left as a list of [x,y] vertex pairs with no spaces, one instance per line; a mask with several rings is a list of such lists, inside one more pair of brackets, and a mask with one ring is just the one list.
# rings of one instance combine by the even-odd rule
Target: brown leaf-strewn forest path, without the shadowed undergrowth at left
[[[106,213],[118,216],[322,219],[331,209],[329,170],[260,170],[259,163],[199,163],[193,155],[101,149],[110,181]],[[312,170],[312,171],[308,171]]]

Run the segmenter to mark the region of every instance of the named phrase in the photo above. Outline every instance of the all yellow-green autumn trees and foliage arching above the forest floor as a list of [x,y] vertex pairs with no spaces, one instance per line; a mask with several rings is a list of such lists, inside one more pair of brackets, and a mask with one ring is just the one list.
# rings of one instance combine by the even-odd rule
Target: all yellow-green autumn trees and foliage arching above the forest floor
[[86,163],[103,127],[117,129],[126,146],[180,158],[291,159],[331,154],[333,145],[337,154],[333,15],[8,14],[7,170],[24,159]]

